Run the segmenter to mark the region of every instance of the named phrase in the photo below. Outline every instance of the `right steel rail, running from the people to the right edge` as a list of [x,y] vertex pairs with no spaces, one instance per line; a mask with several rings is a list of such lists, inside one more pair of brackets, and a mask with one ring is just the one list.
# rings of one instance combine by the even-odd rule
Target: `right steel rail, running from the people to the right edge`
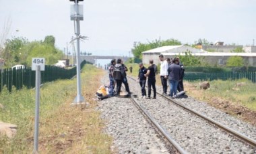
[[[128,78],[131,78],[131,80],[135,80],[134,78],[127,76]],[[171,102],[173,102],[174,104],[177,104],[178,106],[181,106],[182,108],[189,110],[190,112],[192,112],[193,114],[196,114],[198,117],[201,117],[202,119],[205,119],[206,121],[218,126],[220,129],[234,135],[235,137],[237,137],[238,139],[241,139],[243,141],[245,141],[246,143],[249,143],[250,145],[252,145],[253,147],[256,147],[256,141],[254,139],[251,139],[250,137],[247,137],[246,135],[244,135],[243,133],[240,133],[234,129],[230,129],[229,127],[226,127],[225,125],[223,125],[222,123],[219,123],[218,121],[215,121],[214,119],[211,119],[209,117],[206,117],[204,114],[201,114],[200,112],[197,112],[196,110],[193,110],[192,108],[189,108],[171,98],[169,98],[168,96],[164,96],[163,94],[160,94],[159,92],[156,92],[157,94],[159,94],[160,96],[166,98],[167,100],[170,100]]]

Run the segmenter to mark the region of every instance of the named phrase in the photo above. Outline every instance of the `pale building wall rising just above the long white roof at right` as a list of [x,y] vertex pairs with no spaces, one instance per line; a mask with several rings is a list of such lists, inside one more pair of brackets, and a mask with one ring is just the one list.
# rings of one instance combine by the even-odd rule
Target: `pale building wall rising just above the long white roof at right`
[[210,52],[232,52],[236,48],[243,48],[243,46],[202,46],[202,48]]

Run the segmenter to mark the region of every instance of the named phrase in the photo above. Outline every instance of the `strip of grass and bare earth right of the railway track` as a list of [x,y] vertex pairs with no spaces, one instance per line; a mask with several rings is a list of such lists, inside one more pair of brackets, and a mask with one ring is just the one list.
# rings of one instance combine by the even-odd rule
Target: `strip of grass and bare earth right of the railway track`
[[[237,87],[238,83],[245,85]],[[248,80],[214,80],[211,88],[200,90],[199,82],[185,82],[187,94],[223,112],[256,125],[256,86]]]

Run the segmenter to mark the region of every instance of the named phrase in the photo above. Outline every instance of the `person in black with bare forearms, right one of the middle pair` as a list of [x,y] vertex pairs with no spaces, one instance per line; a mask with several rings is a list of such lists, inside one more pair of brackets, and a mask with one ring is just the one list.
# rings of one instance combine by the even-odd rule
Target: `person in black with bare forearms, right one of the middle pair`
[[151,96],[151,86],[153,88],[154,96],[153,99],[156,99],[156,70],[154,66],[154,61],[150,60],[150,66],[148,67],[147,74],[145,76],[148,76],[148,99],[150,99]]

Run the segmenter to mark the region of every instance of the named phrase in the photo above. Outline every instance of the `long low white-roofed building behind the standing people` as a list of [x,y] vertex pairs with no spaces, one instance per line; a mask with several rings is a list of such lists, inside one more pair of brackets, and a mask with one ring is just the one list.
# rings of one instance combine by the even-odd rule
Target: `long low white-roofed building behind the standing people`
[[205,50],[192,48],[190,46],[163,46],[153,50],[142,52],[143,64],[148,64],[149,60],[154,60],[154,64],[159,64],[159,55],[164,58],[175,58],[176,56],[184,56],[185,52],[191,52],[193,56],[201,58],[207,64],[226,65],[226,61],[230,56],[241,56],[245,63],[249,66],[256,66],[256,53],[234,53],[234,52],[207,52]]

